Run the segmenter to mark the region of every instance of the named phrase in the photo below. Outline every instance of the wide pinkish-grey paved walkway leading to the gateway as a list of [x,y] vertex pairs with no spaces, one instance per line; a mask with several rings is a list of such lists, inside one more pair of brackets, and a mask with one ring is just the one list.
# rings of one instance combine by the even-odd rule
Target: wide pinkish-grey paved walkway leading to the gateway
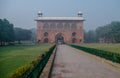
[[51,78],[120,78],[120,72],[80,50],[59,45]]

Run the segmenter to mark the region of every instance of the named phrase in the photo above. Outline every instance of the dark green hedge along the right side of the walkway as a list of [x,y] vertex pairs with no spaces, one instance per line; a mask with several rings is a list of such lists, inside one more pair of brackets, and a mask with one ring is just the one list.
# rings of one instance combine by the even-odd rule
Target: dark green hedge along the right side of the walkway
[[83,46],[73,45],[73,44],[71,44],[70,46],[77,48],[77,49],[80,49],[80,50],[83,50],[87,53],[91,53],[91,54],[94,54],[96,56],[105,58],[107,60],[120,63],[120,54],[118,54],[118,53],[103,51],[103,50],[98,50],[98,49],[94,49],[94,48],[88,48],[88,47],[83,47]]

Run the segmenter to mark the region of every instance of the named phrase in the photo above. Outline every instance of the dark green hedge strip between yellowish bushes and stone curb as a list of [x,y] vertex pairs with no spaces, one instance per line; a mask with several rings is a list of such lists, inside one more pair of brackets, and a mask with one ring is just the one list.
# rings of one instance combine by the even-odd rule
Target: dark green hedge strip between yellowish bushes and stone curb
[[38,61],[37,64],[35,64],[33,69],[31,69],[25,74],[24,78],[39,78],[39,76],[42,73],[43,68],[45,67],[45,65],[47,64],[49,60],[49,57],[53,53],[55,46],[56,45],[54,45],[49,50],[47,50],[44,55],[40,56],[42,57],[42,59]]

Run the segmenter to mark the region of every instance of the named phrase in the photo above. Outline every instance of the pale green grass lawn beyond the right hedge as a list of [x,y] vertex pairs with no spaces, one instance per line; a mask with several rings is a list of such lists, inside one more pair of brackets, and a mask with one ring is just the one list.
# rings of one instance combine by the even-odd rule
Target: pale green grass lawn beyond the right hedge
[[120,53],[120,44],[81,44],[81,46]]

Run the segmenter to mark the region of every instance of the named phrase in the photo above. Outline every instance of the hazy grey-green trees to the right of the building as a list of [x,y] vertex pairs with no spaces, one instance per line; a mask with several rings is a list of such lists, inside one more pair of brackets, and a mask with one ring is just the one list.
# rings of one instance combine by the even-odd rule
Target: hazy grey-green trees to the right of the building
[[120,22],[111,22],[96,30],[85,32],[86,43],[120,43]]

